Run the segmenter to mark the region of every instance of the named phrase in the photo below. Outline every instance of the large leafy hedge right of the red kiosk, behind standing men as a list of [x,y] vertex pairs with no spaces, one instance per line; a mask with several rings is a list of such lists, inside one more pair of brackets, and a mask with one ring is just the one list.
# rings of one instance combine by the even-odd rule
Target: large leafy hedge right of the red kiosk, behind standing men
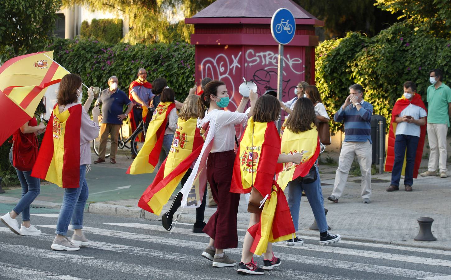
[[[339,110],[354,83],[365,88],[365,100],[387,123],[405,81],[417,84],[426,103],[430,69],[442,69],[443,82],[450,85],[450,44],[449,38],[434,37],[408,23],[396,23],[372,38],[350,32],[345,38],[322,42],[316,49],[315,75],[328,113]],[[342,124],[331,121],[331,127],[336,132]]]

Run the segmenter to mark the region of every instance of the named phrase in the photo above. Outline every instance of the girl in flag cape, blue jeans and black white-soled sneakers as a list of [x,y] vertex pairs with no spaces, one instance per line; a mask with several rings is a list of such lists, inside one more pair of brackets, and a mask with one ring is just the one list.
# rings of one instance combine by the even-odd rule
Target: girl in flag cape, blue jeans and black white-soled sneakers
[[[303,159],[297,166],[285,164],[278,176],[277,183],[282,188],[288,184],[288,205],[296,231],[298,230],[302,191],[305,192],[313,216],[318,223],[319,243],[327,245],[340,241],[341,236],[329,233],[324,213],[324,198],[317,166],[319,156],[317,124],[318,120],[312,101],[305,97],[299,98],[286,122],[286,129],[282,135],[281,152],[282,154],[298,152],[303,155]],[[295,246],[304,244],[304,241],[293,236],[285,243],[287,246]]]

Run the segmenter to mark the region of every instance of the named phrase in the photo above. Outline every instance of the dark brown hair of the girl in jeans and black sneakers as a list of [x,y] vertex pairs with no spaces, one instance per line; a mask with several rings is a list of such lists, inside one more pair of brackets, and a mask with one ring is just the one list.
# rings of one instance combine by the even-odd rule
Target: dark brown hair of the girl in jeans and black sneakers
[[312,129],[312,123],[318,126],[313,103],[310,99],[301,97],[296,101],[293,112],[286,121],[286,128],[300,133]]

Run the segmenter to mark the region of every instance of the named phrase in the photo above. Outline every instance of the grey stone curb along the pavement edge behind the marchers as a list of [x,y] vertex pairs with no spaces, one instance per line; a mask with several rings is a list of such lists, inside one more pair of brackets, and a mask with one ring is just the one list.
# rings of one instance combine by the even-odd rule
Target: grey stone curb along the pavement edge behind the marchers
[[[156,216],[153,213],[147,212],[139,207],[127,207],[122,205],[114,205],[108,203],[91,203],[87,208],[87,212],[93,214],[101,214],[101,215],[112,215],[112,216],[122,216],[128,218],[141,218],[147,220],[161,220],[160,216]],[[205,219],[210,218],[209,216],[205,216]],[[195,221],[195,217],[193,215],[180,215],[178,222],[179,223],[188,223],[193,224]],[[237,227],[241,230],[246,230],[247,227],[242,226],[240,224]],[[299,235],[305,235],[308,237],[319,238],[319,234],[314,230],[298,230]],[[346,241],[355,241],[362,243],[379,243],[379,244],[388,244],[388,245],[398,245],[398,246],[406,246],[406,247],[414,247],[414,248],[428,248],[428,249],[436,249],[442,251],[451,251],[451,245],[442,245],[442,244],[433,244],[433,242],[424,242],[424,241],[414,241],[414,237],[412,237],[412,241],[407,240],[391,240],[391,239],[376,239],[376,238],[366,238],[359,237],[353,235],[342,235],[343,240]]]

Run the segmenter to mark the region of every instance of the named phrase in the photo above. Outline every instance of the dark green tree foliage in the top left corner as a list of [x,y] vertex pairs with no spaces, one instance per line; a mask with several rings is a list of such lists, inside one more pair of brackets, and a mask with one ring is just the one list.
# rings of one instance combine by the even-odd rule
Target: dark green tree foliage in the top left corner
[[0,0],[0,53],[40,50],[55,29],[61,0]]

